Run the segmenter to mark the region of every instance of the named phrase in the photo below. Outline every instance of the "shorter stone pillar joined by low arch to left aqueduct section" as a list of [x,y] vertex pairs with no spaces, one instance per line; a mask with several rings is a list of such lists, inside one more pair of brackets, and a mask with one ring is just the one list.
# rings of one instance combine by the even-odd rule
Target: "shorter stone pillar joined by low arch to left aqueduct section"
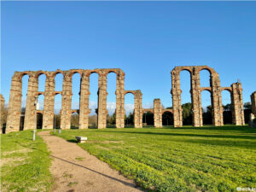
[[134,127],[143,128],[143,94],[136,90],[134,96]]

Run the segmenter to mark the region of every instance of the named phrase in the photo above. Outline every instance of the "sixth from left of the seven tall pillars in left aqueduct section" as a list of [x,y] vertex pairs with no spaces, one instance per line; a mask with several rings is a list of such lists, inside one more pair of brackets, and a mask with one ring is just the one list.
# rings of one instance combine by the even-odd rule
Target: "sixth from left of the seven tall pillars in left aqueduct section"
[[104,70],[99,74],[99,90],[98,90],[98,110],[97,110],[97,124],[98,129],[107,127],[107,75]]

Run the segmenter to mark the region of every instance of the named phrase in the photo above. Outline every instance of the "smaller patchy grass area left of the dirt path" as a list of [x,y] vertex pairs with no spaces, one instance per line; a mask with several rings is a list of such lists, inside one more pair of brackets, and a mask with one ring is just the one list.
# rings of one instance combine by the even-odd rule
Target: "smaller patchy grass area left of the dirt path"
[[32,131],[1,135],[1,191],[49,191],[53,181],[43,139],[32,141]]

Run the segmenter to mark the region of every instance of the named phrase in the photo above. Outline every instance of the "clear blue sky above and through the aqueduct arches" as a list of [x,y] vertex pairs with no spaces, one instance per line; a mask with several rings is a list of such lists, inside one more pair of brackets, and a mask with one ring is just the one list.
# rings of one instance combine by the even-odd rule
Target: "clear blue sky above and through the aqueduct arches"
[[[15,71],[58,68],[121,68],[125,89],[142,90],[145,108],[154,98],[172,106],[175,66],[213,67],[222,86],[241,79],[244,102],[256,90],[256,2],[1,3],[1,92],[7,102]],[[79,75],[73,79],[78,102]],[[181,79],[182,102],[190,102],[189,74]],[[208,73],[201,79],[208,84]],[[96,84],[95,75],[90,85],[94,102]],[[109,103],[115,102],[114,89],[110,74]],[[228,93],[223,97],[224,104],[230,102]],[[125,96],[125,102],[132,98]],[[203,106],[210,104],[207,92],[202,100]]]

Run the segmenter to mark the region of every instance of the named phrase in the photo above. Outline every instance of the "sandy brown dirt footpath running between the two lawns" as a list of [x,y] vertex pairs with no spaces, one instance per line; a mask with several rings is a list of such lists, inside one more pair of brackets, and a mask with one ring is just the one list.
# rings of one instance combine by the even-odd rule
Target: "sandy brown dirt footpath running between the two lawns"
[[55,177],[52,191],[141,191],[133,181],[120,175],[76,143],[51,136],[49,131],[38,132],[38,135],[43,137],[54,159],[50,166],[50,172]]

